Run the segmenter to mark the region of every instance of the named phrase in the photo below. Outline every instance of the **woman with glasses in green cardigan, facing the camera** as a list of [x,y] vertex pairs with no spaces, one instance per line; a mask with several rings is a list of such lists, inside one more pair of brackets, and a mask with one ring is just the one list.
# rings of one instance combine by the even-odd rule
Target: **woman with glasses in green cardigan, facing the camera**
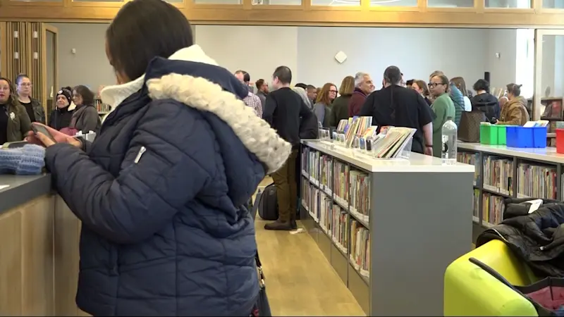
[[429,82],[429,90],[435,97],[431,109],[435,113],[433,120],[433,156],[441,157],[442,130],[446,118],[454,118],[455,108],[453,100],[448,96],[448,78],[445,75],[435,75]]

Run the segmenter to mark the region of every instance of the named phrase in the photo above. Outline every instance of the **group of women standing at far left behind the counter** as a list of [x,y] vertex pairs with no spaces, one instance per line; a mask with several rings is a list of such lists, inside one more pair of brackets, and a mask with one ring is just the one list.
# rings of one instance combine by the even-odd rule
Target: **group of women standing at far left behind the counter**
[[[63,87],[57,92],[55,106],[49,116],[38,99],[32,97],[30,77],[20,74],[12,82],[0,77],[0,145],[22,141],[31,130],[31,123],[43,123],[68,135],[76,132],[97,132],[101,120],[94,108],[94,93],[83,85]],[[48,119],[47,119],[48,118]]]

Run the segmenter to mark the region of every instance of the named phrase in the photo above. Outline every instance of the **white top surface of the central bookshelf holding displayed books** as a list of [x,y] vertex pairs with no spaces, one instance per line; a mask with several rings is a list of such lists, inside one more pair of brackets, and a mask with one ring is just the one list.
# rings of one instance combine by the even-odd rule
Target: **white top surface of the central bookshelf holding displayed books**
[[357,149],[347,149],[329,141],[303,139],[302,144],[369,172],[474,173],[473,165],[443,165],[439,158],[418,153],[411,153],[409,159],[375,159]]

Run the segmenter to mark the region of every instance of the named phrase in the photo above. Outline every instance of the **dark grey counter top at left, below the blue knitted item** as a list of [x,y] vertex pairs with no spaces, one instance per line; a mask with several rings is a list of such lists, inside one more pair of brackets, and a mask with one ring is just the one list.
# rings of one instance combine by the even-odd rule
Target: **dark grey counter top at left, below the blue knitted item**
[[[8,185],[8,187],[4,187]],[[4,188],[2,188],[4,187]],[[0,175],[0,213],[51,192],[51,175]]]

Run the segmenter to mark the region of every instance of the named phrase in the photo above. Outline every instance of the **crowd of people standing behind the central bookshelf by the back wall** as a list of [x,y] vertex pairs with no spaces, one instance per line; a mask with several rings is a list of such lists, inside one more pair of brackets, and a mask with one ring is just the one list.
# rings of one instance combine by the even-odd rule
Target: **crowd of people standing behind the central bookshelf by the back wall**
[[[238,74],[241,74],[241,82],[249,87],[250,75],[243,70],[235,73]],[[250,89],[249,97],[243,100],[266,119],[263,112],[272,92],[262,79],[257,80],[256,87],[257,95]],[[524,125],[529,120],[529,111],[527,99],[520,96],[520,87],[511,83],[498,98],[491,94],[489,82],[479,79],[472,86],[472,94],[462,77],[449,80],[437,70],[429,75],[428,81],[406,81],[399,68],[390,66],[378,90],[372,77],[362,72],[344,77],[339,87],[331,82],[319,88],[298,83],[292,89],[324,128],[335,128],[340,120],[353,116],[372,116],[372,124],[379,127],[416,128],[412,151],[440,157],[443,124],[452,118],[460,125],[464,111],[481,111],[492,124]]]

